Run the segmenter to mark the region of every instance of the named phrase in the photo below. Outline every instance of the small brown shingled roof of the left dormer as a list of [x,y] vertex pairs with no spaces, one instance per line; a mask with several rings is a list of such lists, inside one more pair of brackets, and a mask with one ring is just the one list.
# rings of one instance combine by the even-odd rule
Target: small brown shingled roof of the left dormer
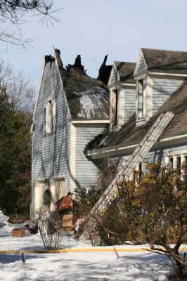
[[115,66],[120,76],[120,81],[125,82],[127,84],[136,83],[134,81],[134,70],[136,67],[136,63],[125,63],[125,62],[115,61]]

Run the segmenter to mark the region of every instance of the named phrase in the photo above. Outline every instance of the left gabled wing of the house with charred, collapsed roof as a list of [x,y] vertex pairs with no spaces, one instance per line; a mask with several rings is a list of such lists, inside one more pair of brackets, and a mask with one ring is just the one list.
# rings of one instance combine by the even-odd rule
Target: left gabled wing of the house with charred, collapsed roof
[[108,89],[86,74],[80,56],[65,68],[58,49],[54,56],[46,55],[31,128],[32,217],[43,205],[47,188],[54,210],[67,192],[96,181],[98,169],[83,150],[108,123]]

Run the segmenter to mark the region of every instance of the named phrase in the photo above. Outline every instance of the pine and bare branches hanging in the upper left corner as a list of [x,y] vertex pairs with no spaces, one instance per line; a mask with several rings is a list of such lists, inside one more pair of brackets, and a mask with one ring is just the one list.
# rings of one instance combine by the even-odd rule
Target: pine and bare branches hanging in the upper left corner
[[0,0],[0,41],[25,48],[31,39],[25,39],[22,25],[28,15],[40,15],[41,25],[48,22],[58,22],[53,13],[62,8],[53,10],[53,0]]

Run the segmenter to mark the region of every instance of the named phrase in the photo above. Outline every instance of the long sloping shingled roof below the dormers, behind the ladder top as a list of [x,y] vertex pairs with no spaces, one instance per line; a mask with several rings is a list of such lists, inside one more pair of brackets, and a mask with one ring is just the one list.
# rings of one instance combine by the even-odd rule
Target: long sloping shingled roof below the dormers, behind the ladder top
[[[94,142],[90,142],[86,145],[85,152],[87,150],[93,150],[98,148],[109,148],[113,146],[127,146],[134,145],[141,141],[143,136],[146,135],[150,126],[153,125],[157,117],[162,112],[173,112],[174,118],[168,124],[166,129],[162,133],[163,136],[176,136],[187,129],[187,79],[183,81],[179,89],[177,89],[172,96],[160,107],[157,112],[150,118],[150,120],[141,126],[136,126],[135,114],[125,123],[119,131],[116,133],[110,132],[108,127],[107,131],[103,131],[99,136],[99,143],[97,137]],[[102,137],[101,137],[102,135]]]

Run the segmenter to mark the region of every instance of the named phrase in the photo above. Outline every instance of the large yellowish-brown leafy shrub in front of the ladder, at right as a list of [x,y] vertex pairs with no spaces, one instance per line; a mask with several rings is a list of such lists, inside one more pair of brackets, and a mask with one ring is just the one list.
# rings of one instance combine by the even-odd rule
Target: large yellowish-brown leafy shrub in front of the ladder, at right
[[168,256],[183,277],[187,259],[179,248],[187,234],[187,166],[183,164],[181,173],[157,163],[147,169],[136,184],[120,183],[117,198],[104,214],[97,214],[95,230],[101,244],[148,243],[151,251]]

